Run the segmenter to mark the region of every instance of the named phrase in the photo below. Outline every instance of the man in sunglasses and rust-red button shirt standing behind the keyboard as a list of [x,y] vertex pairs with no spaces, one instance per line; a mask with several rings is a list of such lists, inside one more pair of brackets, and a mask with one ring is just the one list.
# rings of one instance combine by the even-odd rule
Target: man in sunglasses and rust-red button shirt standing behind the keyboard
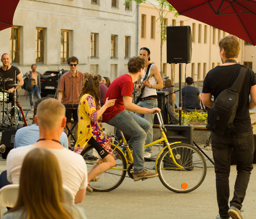
[[[70,71],[64,73],[61,76],[61,81],[58,88],[58,100],[61,101],[64,105],[69,104],[66,107],[66,126],[70,129],[71,127],[71,118],[74,122],[78,121],[78,104],[79,96],[83,86],[84,74],[81,71],[78,71],[78,58],[70,57],[68,58],[68,65]],[[68,135],[68,130],[65,129],[65,133]],[[74,138],[78,138],[78,125],[76,124],[76,130],[74,133]],[[68,144],[70,146],[70,136],[68,137]]]

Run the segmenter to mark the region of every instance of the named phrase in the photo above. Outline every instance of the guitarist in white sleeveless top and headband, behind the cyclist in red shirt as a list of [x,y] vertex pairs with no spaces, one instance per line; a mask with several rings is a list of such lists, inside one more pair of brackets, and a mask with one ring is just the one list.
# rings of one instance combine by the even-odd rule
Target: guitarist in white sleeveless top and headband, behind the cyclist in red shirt
[[[163,80],[161,74],[155,64],[150,63],[150,49],[143,47],[140,49],[139,56],[145,59],[145,73],[142,79],[137,81],[137,95],[136,104],[145,108],[155,108],[158,106],[156,89],[163,88]],[[155,115],[139,114],[142,118],[150,122],[151,128],[146,137],[146,144],[153,141],[153,122]],[[151,158],[152,147],[145,150],[144,158]]]

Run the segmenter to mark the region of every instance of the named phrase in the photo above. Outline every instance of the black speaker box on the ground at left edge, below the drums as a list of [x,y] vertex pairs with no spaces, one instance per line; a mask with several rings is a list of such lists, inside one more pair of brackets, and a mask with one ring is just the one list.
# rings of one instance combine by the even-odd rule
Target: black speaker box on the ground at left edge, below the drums
[[2,158],[6,159],[9,151],[11,151],[14,147],[14,137],[17,130],[3,130],[1,145],[6,146],[6,151],[2,154]]

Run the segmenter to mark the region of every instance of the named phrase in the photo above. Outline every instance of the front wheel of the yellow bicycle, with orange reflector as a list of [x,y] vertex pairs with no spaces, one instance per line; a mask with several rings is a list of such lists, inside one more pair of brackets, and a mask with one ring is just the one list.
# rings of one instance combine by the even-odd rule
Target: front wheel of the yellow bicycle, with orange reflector
[[200,186],[205,179],[207,165],[202,153],[191,145],[175,144],[171,146],[177,163],[184,168],[180,170],[170,157],[166,148],[157,163],[161,183],[168,190],[177,193],[188,193]]

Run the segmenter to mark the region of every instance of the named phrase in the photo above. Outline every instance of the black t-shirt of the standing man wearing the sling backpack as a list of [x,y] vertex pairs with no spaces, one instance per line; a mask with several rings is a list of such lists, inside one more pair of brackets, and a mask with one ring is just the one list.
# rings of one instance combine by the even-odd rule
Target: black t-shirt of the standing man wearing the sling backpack
[[[240,64],[217,66],[210,70],[203,81],[203,93],[211,93],[215,98],[223,89],[230,88],[240,72]],[[247,133],[252,130],[249,113],[250,87],[256,84],[255,73],[247,70],[245,81],[239,94],[237,113],[233,125],[237,133]]]

